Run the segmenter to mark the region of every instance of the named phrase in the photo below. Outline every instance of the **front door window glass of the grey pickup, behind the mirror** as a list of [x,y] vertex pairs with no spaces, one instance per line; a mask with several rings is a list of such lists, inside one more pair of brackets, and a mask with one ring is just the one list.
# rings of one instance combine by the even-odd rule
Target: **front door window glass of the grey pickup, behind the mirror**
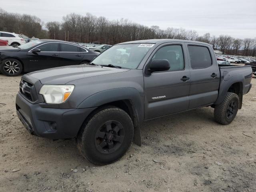
[[154,54],[152,60],[165,59],[170,63],[170,71],[184,69],[184,59],[181,45],[161,47]]

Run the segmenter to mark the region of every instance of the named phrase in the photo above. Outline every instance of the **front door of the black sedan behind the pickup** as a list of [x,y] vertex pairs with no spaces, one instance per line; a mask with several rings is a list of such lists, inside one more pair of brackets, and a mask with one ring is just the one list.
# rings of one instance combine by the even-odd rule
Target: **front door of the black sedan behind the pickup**
[[27,53],[28,71],[36,71],[41,69],[53,68],[59,66],[59,43],[50,42],[42,44],[38,47],[40,52]]

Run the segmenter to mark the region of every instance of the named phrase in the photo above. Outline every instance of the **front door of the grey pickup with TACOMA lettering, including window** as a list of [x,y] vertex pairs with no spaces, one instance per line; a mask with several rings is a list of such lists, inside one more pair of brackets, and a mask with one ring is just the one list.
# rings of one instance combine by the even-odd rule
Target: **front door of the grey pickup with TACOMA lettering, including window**
[[188,110],[190,70],[184,44],[164,44],[156,48],[152,60],[165,59],[170,70],[144,74],[145,120]]

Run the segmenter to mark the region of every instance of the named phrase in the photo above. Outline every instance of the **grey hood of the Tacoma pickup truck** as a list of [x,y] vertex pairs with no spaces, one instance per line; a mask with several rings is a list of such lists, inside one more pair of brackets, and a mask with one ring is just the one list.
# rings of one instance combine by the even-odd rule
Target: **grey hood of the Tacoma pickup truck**
[[39,70],[27,75],[40,80],[42,84],[67,84],[70,81],[82,78],[126,72],[128,70],[83,64]]

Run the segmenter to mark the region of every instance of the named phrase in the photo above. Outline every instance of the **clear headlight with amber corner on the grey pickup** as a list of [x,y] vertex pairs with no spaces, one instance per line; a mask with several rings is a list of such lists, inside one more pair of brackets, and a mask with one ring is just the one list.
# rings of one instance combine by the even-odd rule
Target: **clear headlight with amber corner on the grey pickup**
[[74,87],[74,85],[43,85],[39,94],[44,96],[48,104],[60,104],[69,98]]

